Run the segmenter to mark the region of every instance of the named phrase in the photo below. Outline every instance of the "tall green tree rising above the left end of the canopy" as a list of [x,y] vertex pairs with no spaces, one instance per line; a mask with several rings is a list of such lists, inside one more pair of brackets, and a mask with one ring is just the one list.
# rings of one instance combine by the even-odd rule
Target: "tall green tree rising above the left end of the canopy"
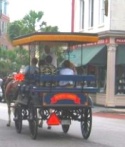
[[8,25],[8,35],[10,40],[15,37],[26,35],[37,31],[37,24],[39,24],[38,30],[46,26],[46,22],[41,21],[43,12],[30,11],[29,14],[25,15],[22,20],[16,20]]

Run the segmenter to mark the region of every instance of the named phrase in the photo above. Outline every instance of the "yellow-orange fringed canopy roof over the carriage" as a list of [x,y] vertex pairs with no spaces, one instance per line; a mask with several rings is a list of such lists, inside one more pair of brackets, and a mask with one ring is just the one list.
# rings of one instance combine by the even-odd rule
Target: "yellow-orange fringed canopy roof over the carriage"
[[27,45],[35,42],[42,43],[70,43],[70,45],[78,45],[82,43],[92,43],[98,41],[98,35],[94,33],[67,33],[67,32],[35,32],[32,34],[17,37],[12,44]]

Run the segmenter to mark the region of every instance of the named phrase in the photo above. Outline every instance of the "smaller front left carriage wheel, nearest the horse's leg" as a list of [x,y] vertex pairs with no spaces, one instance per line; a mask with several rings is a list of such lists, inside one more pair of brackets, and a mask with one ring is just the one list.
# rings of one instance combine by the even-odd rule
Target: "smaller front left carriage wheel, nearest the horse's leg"
[[22,131],[22,108],[20,105],[15,107],[15,127],[17,133]]

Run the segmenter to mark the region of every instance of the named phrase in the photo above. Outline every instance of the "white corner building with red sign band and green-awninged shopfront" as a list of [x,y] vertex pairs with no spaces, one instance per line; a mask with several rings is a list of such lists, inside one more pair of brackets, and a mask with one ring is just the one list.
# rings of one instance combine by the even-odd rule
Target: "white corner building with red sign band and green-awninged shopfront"
[[74,11],[74,31],[99,34],[97,43],[83,45],[83,57],[78,48],[71,53],[72,57],[80,54],[85,73],[97,77],[99,92],[92,96],[94,103],[124,107],[125,1],[75,0]]

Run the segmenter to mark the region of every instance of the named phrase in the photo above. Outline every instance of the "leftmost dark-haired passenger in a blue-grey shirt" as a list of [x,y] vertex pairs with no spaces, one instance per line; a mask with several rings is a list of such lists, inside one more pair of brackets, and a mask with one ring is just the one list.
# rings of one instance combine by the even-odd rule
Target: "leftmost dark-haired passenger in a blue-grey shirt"
[[37,58],[32,58],[31,65],[27,65],[24,70],[22,71],[23,74],[35,74],[38,73],[38,67],[36,66],[38,63]]

